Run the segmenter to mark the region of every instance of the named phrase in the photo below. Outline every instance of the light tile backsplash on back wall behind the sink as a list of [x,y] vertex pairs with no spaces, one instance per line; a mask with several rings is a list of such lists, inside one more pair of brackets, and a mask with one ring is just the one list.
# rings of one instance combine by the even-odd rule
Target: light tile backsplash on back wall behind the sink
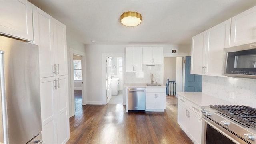
[[125,72],[124,83],[150,83],[151,74],[154,82],[163,84],[164,64],[154,64],[154,66],[142,65],[142,72]]

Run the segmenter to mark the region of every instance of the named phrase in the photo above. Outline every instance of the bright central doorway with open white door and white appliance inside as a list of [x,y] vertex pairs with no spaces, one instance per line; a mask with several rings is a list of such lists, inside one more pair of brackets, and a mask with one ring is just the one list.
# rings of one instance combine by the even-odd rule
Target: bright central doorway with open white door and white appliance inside
[[123,103],[123,58],[106,58],[106,97],[107,104]]

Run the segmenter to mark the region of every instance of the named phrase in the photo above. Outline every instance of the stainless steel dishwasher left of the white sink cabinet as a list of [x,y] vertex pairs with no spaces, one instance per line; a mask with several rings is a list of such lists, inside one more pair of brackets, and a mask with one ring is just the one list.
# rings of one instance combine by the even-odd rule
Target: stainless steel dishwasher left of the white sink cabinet
[[146,88],[128,88],[128,110],[146,110]]

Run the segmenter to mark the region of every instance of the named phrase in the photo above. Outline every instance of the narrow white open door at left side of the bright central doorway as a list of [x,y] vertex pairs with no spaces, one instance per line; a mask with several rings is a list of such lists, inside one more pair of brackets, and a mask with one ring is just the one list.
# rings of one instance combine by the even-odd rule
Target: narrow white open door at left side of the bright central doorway
[[107,94],[107,103],[111,99],[111,78],[112,78],[112,60],[111,58],[106,58],[106,94]]

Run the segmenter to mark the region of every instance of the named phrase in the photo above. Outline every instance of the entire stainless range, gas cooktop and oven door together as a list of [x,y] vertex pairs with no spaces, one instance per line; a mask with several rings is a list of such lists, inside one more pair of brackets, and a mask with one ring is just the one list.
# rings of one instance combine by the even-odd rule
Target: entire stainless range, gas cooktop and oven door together
[[256,144],[256,109],[248,106],[202,107],[204,144]]

